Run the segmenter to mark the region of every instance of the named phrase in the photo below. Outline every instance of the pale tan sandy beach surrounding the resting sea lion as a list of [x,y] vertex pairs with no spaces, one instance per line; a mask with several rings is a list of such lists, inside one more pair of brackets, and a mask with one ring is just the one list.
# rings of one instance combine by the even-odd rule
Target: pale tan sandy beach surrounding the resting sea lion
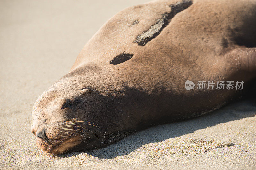
[[69,72],[110,17],[145,2],[0,2],[0,169],[256,169],[252,100],[139,131],[102,149],[51,156],[36,147],[30,126],[38,96]]

